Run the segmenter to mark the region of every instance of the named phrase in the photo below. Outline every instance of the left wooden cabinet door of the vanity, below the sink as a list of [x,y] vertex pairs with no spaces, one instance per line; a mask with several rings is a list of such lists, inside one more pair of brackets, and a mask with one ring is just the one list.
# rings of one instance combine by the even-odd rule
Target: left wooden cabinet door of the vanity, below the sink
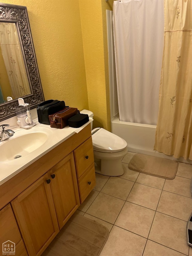
[[48,179],[46,173],[11,202],[30,256],[41,255],[59,232]]

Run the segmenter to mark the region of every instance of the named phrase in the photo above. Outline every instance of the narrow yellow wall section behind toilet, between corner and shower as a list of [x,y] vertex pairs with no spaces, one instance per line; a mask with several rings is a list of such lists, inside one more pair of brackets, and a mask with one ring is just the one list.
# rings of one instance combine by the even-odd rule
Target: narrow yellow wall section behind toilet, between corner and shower
[[[113,2],[113,1],[112,1]],[[106,9],[104,0],[79,0],[89,110],[94,127],[110,130]]]

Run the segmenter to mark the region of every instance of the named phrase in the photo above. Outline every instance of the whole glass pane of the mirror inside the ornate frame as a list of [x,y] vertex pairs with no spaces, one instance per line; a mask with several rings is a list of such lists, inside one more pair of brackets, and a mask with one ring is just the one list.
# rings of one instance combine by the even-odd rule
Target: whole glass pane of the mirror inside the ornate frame
[[0,103],[31,94],[15,23],[0,22]]

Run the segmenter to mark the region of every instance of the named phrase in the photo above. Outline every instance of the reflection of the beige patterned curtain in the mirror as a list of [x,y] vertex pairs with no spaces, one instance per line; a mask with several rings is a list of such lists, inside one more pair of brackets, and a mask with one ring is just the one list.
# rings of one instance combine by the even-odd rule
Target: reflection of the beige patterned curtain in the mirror
[[29,95],[25,65],[15,23],[0,22],[0,46],[12,90],[12,98]]

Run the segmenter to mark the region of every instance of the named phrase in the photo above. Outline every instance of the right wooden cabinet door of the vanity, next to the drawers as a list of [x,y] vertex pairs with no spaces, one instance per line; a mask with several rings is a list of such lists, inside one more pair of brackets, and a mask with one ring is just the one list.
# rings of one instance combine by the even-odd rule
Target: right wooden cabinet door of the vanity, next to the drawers
[[79,192],[73,153],[49,170],[51,190],[61,229],[79,207]]

